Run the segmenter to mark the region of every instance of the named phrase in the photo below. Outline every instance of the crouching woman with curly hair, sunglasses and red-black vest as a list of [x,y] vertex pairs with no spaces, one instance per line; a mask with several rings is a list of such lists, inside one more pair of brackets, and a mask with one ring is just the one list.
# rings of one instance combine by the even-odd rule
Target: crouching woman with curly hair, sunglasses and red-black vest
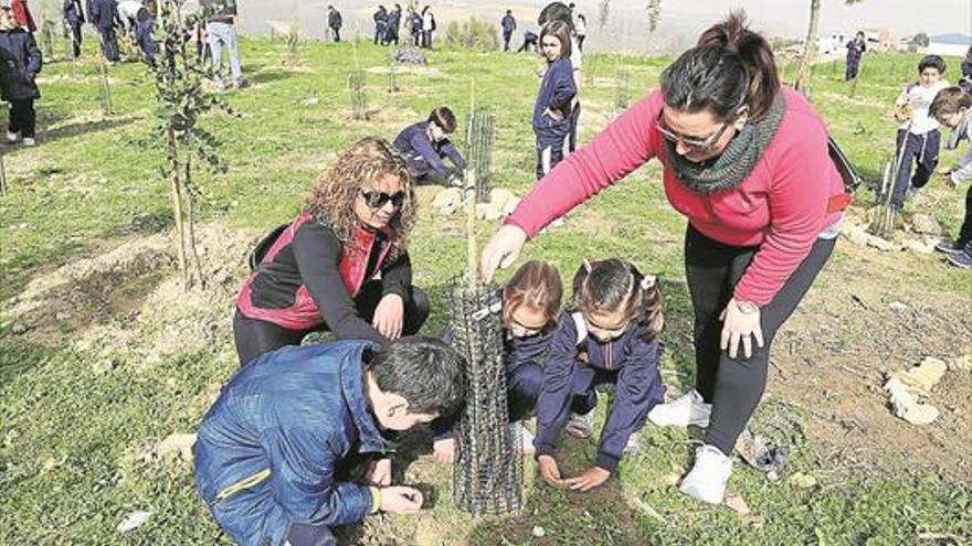
[[341,153],[297,218],[254,253],[233,319],[240,363],[313,331],[379,343],[418,332],[429,300],[406,249],[415,205],[405,160],[385,140]]

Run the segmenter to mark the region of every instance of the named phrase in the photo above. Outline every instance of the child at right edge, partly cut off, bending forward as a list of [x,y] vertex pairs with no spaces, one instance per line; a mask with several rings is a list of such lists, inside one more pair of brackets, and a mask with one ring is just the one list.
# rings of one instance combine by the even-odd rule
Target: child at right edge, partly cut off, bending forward
[[[954,150],[959,142],[969,140],[972,129],[972,95],[958,86],[947,87],[934,97],[929,111],[941,125],[952,130],[945,148]],[[949,172],[949,180],[955,185],[969,179],[972,179],[972,148]],[[944,240],[936,248],[945,253],[945,258],[952,265],[972,267],[972,186],[965,193],[965,220],[959,231],[959,238],[954,242]]]

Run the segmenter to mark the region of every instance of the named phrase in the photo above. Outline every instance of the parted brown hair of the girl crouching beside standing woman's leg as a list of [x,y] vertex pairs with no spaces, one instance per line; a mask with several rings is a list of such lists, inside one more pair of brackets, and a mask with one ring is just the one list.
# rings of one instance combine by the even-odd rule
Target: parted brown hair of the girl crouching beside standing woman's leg
[[571,311],[623,312],[642,329],[646,341],[656,340],[665,328],[658,280],[617,258],[584,260],[573,276]]

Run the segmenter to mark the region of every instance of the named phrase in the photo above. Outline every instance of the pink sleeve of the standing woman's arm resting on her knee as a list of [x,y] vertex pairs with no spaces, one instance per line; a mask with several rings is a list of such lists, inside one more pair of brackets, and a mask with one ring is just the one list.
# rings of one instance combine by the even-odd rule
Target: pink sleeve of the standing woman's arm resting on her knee
[[[799,132],[778,135],[785,148],[768,157],[770,225],[752,263],[736,285],[735,297],[763,307],[810,254],[826,220],[831,197],[827,136],[820,122],[800,124]],[[768,150],[769,152],[769,150]]]

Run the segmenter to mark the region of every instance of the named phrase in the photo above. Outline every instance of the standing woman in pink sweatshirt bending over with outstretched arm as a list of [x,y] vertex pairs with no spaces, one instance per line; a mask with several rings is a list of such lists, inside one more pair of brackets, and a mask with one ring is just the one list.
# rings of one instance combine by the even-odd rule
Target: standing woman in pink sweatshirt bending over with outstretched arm
[[652,158],[688,217],[696,389],[656,425],[707,427],[682,491],[720,503],[737,437],[767,383],[770,344],[834,249],[848,203],[823,120],[783,89],[767,41],[742,13],[708,29],[632,106],[540,180],[483,253],[486,278],[527,238]]

